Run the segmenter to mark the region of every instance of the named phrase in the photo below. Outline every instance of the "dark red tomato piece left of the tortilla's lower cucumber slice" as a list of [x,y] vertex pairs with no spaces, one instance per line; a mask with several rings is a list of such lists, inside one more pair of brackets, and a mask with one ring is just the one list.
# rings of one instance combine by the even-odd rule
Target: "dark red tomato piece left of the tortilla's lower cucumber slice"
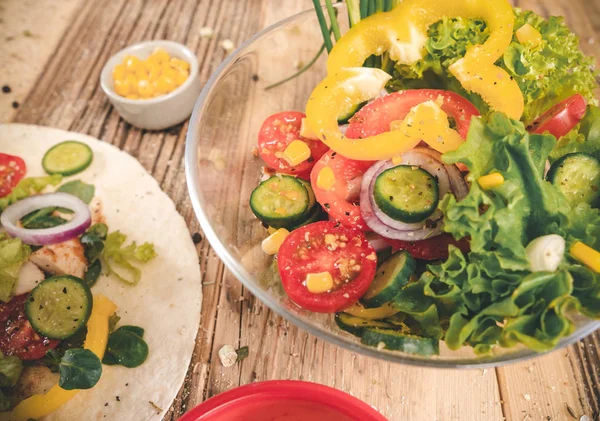
[[39,335],[25,316],[28,294],[17,295],[0,304],[0,350],[4,355],[16,355],[22,360],[38,360],[60,341]]

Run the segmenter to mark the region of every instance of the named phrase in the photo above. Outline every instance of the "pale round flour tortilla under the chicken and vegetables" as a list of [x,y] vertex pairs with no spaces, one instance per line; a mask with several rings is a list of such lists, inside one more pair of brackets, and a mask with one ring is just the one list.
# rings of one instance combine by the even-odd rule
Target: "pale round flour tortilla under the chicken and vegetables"
[[44,153],[65,140],[88,144],[94,160],[85,171],[64,181],[94,184],[109,230],[126,234],[126,244],[154,243],[158,256],[140,266],[142,279],[134,287],[103,274],[92,288],[94,294],[104,294],[117,304],[119,325],[146,330],[148,360],[133,369],[103,366],[102,378],[93,389],[80,391],[43,420],[160,420],[184,381],[198,332],[202,291],[196,249],[173,201],[129,154],[78,133],[0,125],[0,151],[23,158],[26,176],[44,175]]

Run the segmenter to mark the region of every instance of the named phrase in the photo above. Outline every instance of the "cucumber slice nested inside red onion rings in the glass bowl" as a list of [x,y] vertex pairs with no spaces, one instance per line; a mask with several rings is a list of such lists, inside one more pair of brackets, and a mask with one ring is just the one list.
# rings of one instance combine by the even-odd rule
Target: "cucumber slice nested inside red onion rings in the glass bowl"
[[398,165],[375,180],[375,203],[391,218],[413,223],[426,219],[437,208],[437,179],[422,168]]

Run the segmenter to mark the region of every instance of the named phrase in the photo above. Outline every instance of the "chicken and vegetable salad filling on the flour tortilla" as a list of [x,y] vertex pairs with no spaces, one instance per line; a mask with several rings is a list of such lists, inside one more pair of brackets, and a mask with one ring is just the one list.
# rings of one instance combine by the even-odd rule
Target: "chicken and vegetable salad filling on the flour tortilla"
[[25,177],[21,157],[0,153],[0,419],[47,415],[93,388],[103,365],[148,357],[144,329],[117,327],[117,306],[92,288],[103,268],[135,285],[156,253],[109,231],[94,185],[63,182],[92,160],[86,143],[65,141],[45,153],[47,175]]

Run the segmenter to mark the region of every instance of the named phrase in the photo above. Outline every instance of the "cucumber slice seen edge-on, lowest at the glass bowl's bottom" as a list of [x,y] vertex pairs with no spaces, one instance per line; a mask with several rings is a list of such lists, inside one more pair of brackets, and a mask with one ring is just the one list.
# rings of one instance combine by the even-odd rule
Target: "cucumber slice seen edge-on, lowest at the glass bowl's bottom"
[[361,342],[369,346],[378,348],[383,346],[385,349],[423,356],[438,355],[440,353],[439,340],[411,335],[406,330],[366,328],[361,336]]

